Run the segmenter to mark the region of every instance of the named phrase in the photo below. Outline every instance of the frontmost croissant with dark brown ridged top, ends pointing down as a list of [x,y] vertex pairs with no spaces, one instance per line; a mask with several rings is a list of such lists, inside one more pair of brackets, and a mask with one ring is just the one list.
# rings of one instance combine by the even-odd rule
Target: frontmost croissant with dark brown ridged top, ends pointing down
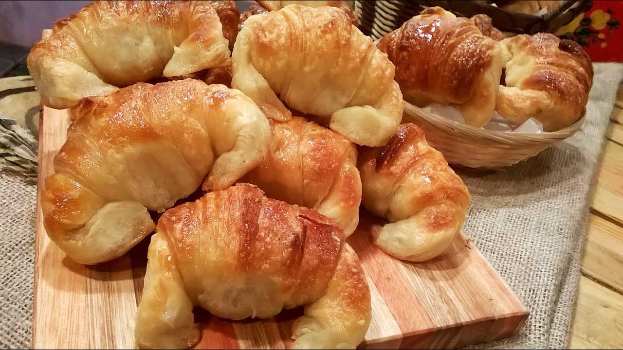
[[151,238],[135,337],[140,348],[199,341],[193,306],[229,319],[305,305],[297,349],[354,349],[371,319],[361,264],[333,221],[236,184],[165,212]]

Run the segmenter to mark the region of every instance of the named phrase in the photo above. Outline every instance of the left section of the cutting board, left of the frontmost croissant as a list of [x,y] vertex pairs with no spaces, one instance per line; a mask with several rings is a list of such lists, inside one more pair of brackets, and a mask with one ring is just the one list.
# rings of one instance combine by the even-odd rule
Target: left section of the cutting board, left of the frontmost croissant
[[[50,35],[44,31],[43,36]],[[134,348],[136,301],[130,258],[87,267],[73,262],[47,237],[40,206],[45,178],[67,137],[66,110],[43,108],[35,234],[32,348]],[[103,316],[105,315],[105,316]],[[68,332],[67,329],[74,329]],[[92,331],[98,329],[97,332]]]

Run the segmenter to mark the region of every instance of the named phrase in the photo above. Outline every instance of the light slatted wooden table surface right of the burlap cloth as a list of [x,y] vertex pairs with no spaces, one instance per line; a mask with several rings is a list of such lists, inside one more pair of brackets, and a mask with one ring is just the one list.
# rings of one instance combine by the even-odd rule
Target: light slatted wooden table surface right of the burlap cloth
[[569,348],[623,348],[623,83],[597,174]]

